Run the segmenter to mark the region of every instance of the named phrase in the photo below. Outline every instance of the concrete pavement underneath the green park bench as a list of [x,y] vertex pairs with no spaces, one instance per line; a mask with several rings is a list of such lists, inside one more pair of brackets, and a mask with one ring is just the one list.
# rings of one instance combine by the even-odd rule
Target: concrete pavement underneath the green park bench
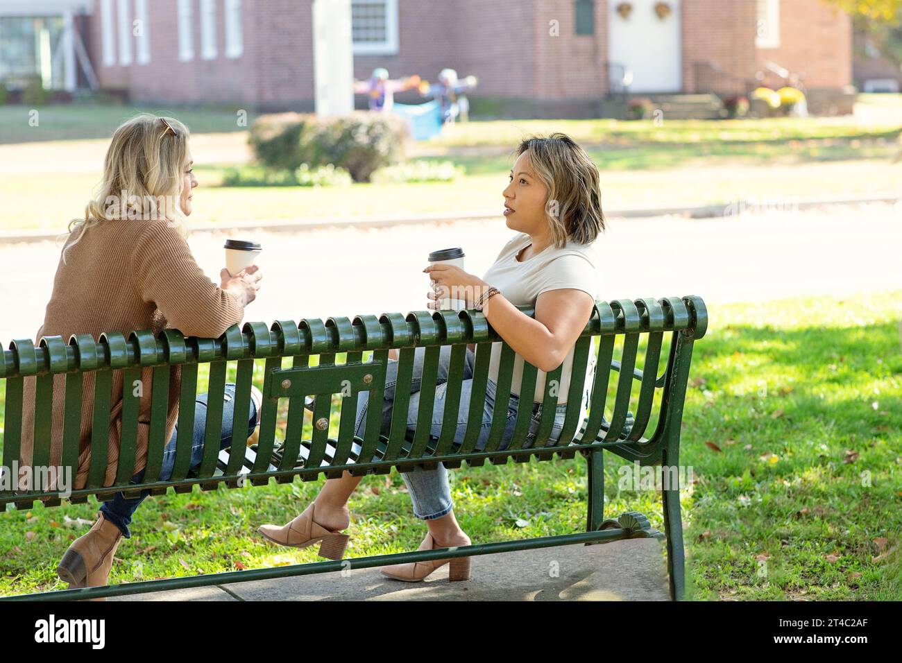
[[419,583],[362,568],[110,601],[667,601],[662,545],[630,539],[479,555],[470,579],[459,583],[447,581],[447,565]]

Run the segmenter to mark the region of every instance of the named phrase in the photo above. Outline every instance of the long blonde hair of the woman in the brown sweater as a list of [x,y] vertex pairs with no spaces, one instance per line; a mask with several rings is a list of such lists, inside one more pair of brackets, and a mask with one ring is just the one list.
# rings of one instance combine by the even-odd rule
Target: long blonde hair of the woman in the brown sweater
[[84,218],[69,222],[69,237],[80,232],[63,249],[63,262],[88,228],[110,221],[165,218],[187,237],[179,200],[188,138],[188,127],[172,117],[143,113],[120,125],[106,151],[97,197],[87,203]]

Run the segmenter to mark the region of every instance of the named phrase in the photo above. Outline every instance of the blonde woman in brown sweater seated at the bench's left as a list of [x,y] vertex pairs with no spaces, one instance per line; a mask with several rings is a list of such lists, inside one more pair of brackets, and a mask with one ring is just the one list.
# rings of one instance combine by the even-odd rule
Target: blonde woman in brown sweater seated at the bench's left
[[[138,115],[120,126],[106,152],[99,195],[82,219],[69,224],[69,236],[60,254],[51,300],[36,338],[74,334],[97,340],[103,332],[163,327],[185,336],[217,337],[244,318],[244,307],[256,297],[262,275],[249,267],[234,278],[224,269],[221,284],[204,274],[186,242],[186,216],[193,207],[198,180],[192,170],[188,128],[171,117]],[[170,369],[166,437],[159,479],[168,479],[175,457],[176,419],[179,415],[179,367]],[[54,378],[51,465],[61,465],[65,376]],[[144,474],[149,439],[152,370],[142,371],[138,414],[137,451],[133,483]],[[78,471],[73,489],[84,488],[90,466],[90,440],[95,374],[84,374],[79,436]],[[110,417],[104,485],[115,481],[122,429],[121,371],[113,373],[113,408]],[[25,381],[23,398],[22,462],[31,465],[34,421],[34,378]],[[235,385],[226,385],[223,409],[223,446],[231,444],[232,399]],[[248,437],[259,419],[260,392],[254,391],[247,414]],[[203,457],[207,394],[195,404],[192,464]],[[113,556],[123,537],[130,537],[134,511],[147,496],[125,499],[123,493],[104,502],[93,527],[69,546],[57,568],[71,587],[106,585]]]

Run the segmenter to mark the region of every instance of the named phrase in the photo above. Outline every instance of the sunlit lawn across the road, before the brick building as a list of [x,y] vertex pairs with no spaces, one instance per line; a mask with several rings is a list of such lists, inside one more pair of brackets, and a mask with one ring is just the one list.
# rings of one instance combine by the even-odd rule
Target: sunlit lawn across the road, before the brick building
[[[890,110],[898,107],[902,117],[897,97],[866,98],[862,103]],[[24,148],[0,144],[0,160],[7,164],[5,169],[0,164],[0,198],[4,200],[0,229],[62,232],[72,217],[83,214],[87,198],[98,184],[106,149],[106,138],[101,137],[137,109],[48,106],[40,109],[41,124],[33,128],[22,124],[25,110],[23,106],[0,107],[0,143],[97,139]],[[172,113],[198,134],[242,129],[235,122],[234,109]],[[253,119],[254,115],[249,115],[249,122]],[[322,189],[223,187],[223,174],[244,158],[244,148],[235,136],[211,135],[205,137],[205,147],[222,162],[198,162],[201,189],[195,195],[191,220],[205,225],[309,216],[340,219],[399,212],[484,212],[502,203],[511,151],[520,138],[553,131],[566,132],[584,143],[601,170],[603,207],[608,208],[726,204],[740,197],[898,194],[902,181],[902,161],[889,161],[899,150],[899,120],[865,122],[854,116],[665,119],[663,124],[609,119],[474,121],[449,126],[441,136],[411,146],[413,158],[450,160],[462,166],[466,174],[454,182]],[[220,144],[223,148],[217,150]],[[91,160],[97,161],[97,170],[90,168]],[[70,161],[77,167],[69,168]],[[25,167],[10,166],[18,162]],[[48,190],[53,196],[46,195]]]

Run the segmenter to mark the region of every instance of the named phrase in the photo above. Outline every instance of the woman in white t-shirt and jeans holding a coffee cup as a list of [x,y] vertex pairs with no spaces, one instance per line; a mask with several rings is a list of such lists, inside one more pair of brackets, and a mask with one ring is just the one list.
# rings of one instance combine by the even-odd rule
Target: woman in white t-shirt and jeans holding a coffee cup
[[[518,234],[502,248],[482,279],[450,265],[435,265],[424,270],[434,283],[434,290],[428,295],[432,299],[429,308],[437,308],[437,300],[447,297],[449,291],[455,299],[467,299],[467,307],[482,308],[492,328],[516,353],[511,400],[507,403],[507,424],[500,449],[510,443],[520,399],[526,398],[519,393],[524,360],[538,368],[538,378],[535,393],[529,394],[532,417],[523,447],[531,447],[538,432],[545,375],[563,364],[549,439],[555,441],[560,436],[574,345],[592,317],[594,301],[598,297],[599,274],[592,244],[604,229],[598,169],[583,148],[565,134],[552,134],[548,138],[524,140],[516,153],[518,158],[503,196],[505,221],[509,228],[519,231]],[[535,318],[522,313],[516,308],[519,305],[534,306]],[[492,344],[483,426],[476,449],[484,447],[489,435],[501,346],[501,343]],[[417,421],[424,352],[425,348],[418,348],[415,353],[409,428],[415,428]],[[441,433],[444,418],[449,360],[450,347],[446,346],[442,348],[438,366],[431,430],[435,437]],[[462,443],[467,428],[473,370],[474,351],[471,348],[466,353],[456,445]],[[391,427],[397,361],[390,360],[386,372],[383,434],[388,434]],[[369,392],[364,391],[358,400],[357,435],[364,432],[368,396]],[[414,514],[428,524],[428,534],[419,549],[469,545],[470,539],[455,519],[445,466],[439,463],[435,470],[419,467],[402,476],[410,492]],[[297,518],[281,527],[263,525],[260,532],[283,546],[304,547],[321,540],[321,555],[341,558],[348,537],[339,532],[349,524],[347,499],[360,479],[347,472],[340,479],[329,479],[317,499]],[[385,566],[382,573],[400,580],[422,580],[448,562],[451,580],[469,577],[469,557]]]

